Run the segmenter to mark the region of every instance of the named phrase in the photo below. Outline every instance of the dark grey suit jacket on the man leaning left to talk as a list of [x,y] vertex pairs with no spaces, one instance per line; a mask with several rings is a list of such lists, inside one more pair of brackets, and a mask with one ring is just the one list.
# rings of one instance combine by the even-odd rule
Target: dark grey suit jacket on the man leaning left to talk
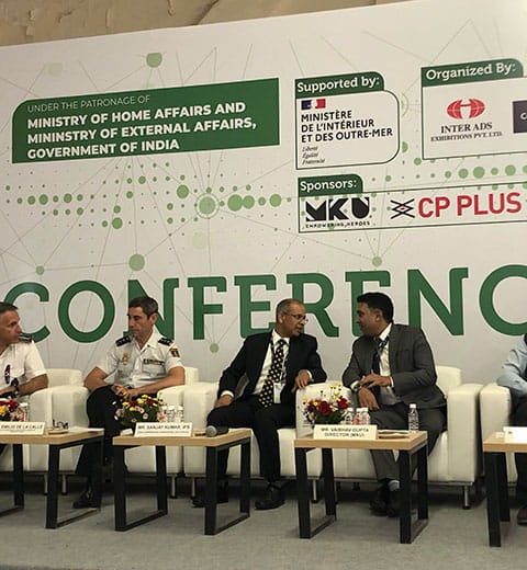
[[[351,358],[343,375],[346,386],[371,373],[375,349],[372,337],[362,335],[354,342]],[[421,329],[392,324],[388,351],[393,389],[404,403],[413,402],[417,408],[446,406],[445,395],[436,385],[437,374],[431,349]],[[379,390],[373,391],[379,399]]]

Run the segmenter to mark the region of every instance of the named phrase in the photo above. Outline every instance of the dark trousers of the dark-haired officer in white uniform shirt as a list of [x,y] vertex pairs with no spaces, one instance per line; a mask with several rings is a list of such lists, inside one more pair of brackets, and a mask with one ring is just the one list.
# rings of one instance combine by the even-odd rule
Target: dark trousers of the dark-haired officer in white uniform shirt
[[[112,437],[123,429],[115,419],[117,396],[110,386],[92,391],[86,402],[90,428],[104,428],[104,463],[113,458]],[[101,469],[101,456],[98,444],[88,443],[82,446],[75,472],[90,477]]]

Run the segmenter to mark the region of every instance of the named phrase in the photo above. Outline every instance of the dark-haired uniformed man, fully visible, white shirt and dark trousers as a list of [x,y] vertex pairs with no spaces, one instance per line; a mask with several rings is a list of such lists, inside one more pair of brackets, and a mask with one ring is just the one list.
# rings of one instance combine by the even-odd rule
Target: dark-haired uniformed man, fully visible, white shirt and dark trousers
[[[115,419],[115,396],[136,398],[157,394],[169,386],[184,384],[184,368],[178,346],[154,330],[158,316],[157,301],[136,297],[128,304],[128,333],[115,341],[105,357],[85,378],[90,390],[87,413],[90,428],[104,428],[104,465],[113,460],[112,437],[122,425]],[[112,384],[106,378],[113,375]],[[100,454],[97,445],[86,444],[77,464],[77,475],[87,483],[74,509],[98,508],[101,504]]]

